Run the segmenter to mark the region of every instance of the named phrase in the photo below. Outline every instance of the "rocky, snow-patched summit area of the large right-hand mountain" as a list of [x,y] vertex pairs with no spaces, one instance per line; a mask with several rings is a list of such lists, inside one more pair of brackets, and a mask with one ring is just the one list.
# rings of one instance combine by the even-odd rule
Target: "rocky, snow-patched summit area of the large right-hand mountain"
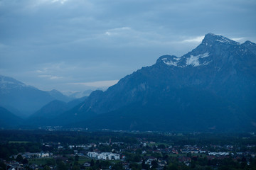
[[256,53],[256,45],[253,42],[239,42],[230,40],[222,35],[208,33],[198,47],[181,57],[174,55],[164,55],[159,57],[156,64],[164,64],[167,67],[208,67],[214,64],[215,67],[223,67],[224,64],[234,65],[240,58],[247,55],[248,51]]

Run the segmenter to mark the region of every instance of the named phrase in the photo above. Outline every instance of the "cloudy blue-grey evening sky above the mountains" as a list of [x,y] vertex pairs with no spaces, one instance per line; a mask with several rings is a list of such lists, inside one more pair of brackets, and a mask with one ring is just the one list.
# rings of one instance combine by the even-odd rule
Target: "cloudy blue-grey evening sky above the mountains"
[[256,42],[255,0],[0,0],[0,74],[41,90],[105,89],[215,33]]

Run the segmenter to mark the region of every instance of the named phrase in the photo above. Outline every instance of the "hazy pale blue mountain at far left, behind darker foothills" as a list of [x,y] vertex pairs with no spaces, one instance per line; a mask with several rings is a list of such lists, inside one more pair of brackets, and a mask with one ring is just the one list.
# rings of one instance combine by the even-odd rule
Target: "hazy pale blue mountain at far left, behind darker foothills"
[[55,99],[70,101],[72,98],[56,90],[41,91],[11,77],[0,75],[0,106],[20,117],[35,113],[46,103]]

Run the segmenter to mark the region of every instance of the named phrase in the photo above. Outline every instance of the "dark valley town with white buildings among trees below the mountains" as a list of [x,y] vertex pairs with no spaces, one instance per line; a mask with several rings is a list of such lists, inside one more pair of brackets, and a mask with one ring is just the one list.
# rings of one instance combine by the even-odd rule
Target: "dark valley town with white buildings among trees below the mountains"
[[254,133],[213,135],[42,130],[10,130],[0,133],[0,169],[160,170],[256,167]]

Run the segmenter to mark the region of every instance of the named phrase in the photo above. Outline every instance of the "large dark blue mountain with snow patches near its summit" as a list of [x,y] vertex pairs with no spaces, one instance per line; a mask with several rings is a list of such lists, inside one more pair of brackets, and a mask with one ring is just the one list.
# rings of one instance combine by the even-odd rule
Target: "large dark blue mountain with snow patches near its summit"
[[182,57],[93,91],[55,124],[113,130],[256,130],[255,43],[209,33]]

